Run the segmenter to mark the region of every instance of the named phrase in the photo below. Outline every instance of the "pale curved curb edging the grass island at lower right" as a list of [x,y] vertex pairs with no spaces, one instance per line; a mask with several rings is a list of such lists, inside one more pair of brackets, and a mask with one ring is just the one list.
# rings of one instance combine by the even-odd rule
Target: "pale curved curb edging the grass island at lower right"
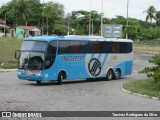
[[151,97],[151,96],[148,96],[148,95],[142,95],[142,94],[139,94],[139,93],[134,93],[134,92],[131,92],[131,91],[129,91],[129,90],[124,89],[122,86],[123,86],[123,85],[121,85],[121,90],[124,91],[124,92],[127,92],[127,93],[129,93],[129,94],[133,94],[133,95],[136,95],[136,96],[145,97],[145,98],[149,98],[149,99],[159,100],[159,101],[160,101],[160,98]]

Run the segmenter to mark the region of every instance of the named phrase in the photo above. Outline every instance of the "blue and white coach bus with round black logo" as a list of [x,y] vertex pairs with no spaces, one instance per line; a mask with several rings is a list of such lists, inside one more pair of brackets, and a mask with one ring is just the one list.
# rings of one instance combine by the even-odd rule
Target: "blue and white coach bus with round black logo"
[[38,36],[25,38],[15,52],[18,78],[57,81],[119,79],[132,73],[132,40],[100,36]]

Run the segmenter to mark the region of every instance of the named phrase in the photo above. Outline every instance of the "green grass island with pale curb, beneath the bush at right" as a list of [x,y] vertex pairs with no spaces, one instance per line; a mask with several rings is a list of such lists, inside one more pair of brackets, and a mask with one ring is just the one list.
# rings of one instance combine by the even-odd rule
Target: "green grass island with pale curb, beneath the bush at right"
[[155,83],[153,79],[132,80],[123,84],[122,87],[134,93],[157,97],[160,99],[160,82]]

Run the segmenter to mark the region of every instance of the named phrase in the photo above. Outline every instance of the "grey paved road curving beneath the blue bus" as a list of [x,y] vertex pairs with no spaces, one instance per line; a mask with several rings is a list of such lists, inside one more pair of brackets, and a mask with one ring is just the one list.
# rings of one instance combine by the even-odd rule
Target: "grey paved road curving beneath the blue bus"
[[[134,52],[133,74],[111,81],[83,80],[65,82],[61,86],[57,83],[37,85],[35,82],[19,80],[17,72],[0,73],[0,111],[160,111],[160,101],[132,95],[120,89],[125,82],[146,78],[137,71],[151,65],[148,60],[152,55]],[[70,118],[54,119],[70,120]],[[123,118],[125,119],[159,118]]]

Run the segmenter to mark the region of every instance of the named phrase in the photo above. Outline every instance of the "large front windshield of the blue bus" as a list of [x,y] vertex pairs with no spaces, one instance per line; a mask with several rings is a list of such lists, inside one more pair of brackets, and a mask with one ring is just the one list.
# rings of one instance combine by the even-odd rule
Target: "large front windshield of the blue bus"
[[24,41],[21,47],[19,68],[29,70],[42,70],[47,42]]

